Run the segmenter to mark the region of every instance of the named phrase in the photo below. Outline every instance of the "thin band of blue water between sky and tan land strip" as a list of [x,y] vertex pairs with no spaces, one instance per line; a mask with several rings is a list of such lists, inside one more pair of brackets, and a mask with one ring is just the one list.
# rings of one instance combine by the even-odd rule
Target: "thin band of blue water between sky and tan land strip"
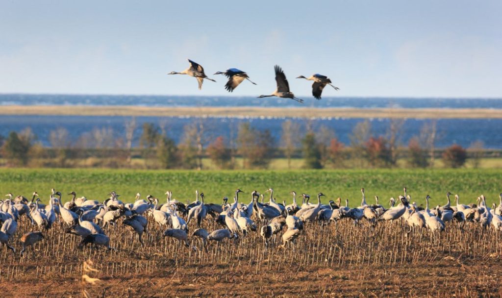
[[[489,98],[304,98],[305,106],[354,108],[493,108],[502,99]],[[138,106],[298,106],[291,99],[239,96],[0,94],[1,105],[138,105]]]

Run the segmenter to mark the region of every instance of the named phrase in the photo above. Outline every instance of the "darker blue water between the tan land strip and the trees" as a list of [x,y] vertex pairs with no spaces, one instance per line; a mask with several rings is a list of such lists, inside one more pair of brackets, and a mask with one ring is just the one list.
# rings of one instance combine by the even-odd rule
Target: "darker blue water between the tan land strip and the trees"
[[[136,117],[136,140],[142,132],[142,125],[146,122],[156,123],[164,127],[168,136],[177,142],[182,139],[183,127],[193,122],[202,121],[205,127],[206,136],[210,139],[219,135],[229,138],[237,134],[238,125],[242,122],[249,122],[257,129],[270,129],[275,141],[279,141],[282,131],[282,123],[287,118],[277,119],[235,119],[235,118],[191,118],[191,117]],[[86,132],[91,132],[95,128],[111,128],[114,137],[124,137],[124,125],[131,120],[131,117],[124,116],[34,116],[34,115],[4,115],[0,116],[0,134],[6,136],[11,130],[20,131],[26,127],[31,127],[37,134],[39,141],[44,145],[50,145],[49,134],[51,130],[64,127],[69,131],[71,141],[77,139]],[[300,124],[301,131],[306,130],[307,125],[311,125],[317,131],[321,125],[334,131],[336,137],[345,144],[350,143],[349,136],[354,126],[364,119],[339,118],[339,119],[295,119],[292,121]],[[390,124],[389,119],[369,119],[371,130],[374,135],[385,135]],[[429,123],[427,119],[407,119],[402,126],[402,141],[407,144],[410,138],[420,133],[421,127]],[[458,143],[468,147],[471,142],[481,140],[486,148],[502,149],[502,119],[439,119],[437,121],[438,138],[437,147],[447,147],[453,143]],[[299,135],[301,138],[303,133]]]

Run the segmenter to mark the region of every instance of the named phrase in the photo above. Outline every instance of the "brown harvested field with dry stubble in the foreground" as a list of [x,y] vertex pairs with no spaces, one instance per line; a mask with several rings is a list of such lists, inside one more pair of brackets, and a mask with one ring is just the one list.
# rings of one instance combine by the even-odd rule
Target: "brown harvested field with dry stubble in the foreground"
[[[77,236],[57,224],[24,257],[0,253],[0,290],[9,296],[78,296],[82,262],[91,259],[101,281],[87,286],[94,296],[443,296],[500,294],[500,232],[468,224],[460,231],[416,230],[401,221],[375,230],[348,219],[322,227],[309,223],[296,243],[264,246],[258,232],[234,243],[211,244],[208,252],[191,237],[187,248],[163,238],[165,227],[150,220],[141,247],[119,220],[105,230],[116,251],[79,248]],[[212,221],[203,226],[219,227]],[[17,237],[35,227],[26,218]],[[193,231],[195,225],[190,226]],[[281,233],[279,234],[279,236]],[[15,243],[17,251],[21,248]]]

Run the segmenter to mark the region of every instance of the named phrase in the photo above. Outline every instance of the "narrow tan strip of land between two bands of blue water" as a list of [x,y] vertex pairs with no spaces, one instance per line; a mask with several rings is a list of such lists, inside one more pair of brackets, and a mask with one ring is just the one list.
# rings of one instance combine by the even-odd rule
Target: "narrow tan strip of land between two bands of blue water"
[[4,105],[0,115],[295,117],[295,118],[502,118],[486,108],[311,108],[311,107],[145,107],[88,105]]

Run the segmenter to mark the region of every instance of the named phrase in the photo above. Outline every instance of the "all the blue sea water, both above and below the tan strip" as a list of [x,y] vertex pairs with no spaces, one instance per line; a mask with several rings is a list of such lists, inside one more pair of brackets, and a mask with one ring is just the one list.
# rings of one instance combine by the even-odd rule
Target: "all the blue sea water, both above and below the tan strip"
[[[297,106],[291,100],[263,100],[252,97],[203,97],[203,96],[140,96],[140,95],[37,95],[37,94],[0,94],[2,105],[140,105],[140,106]],[[482,98],[323,98],[312,100],[307,106],[316,107],[404,107],[404,108],[493,108],[502,109],[502,99]],[[421,127],[429,119],[414,119],[407,115],[401,132],[401,141],[407,144],[410,138],[420,134]],[[237,134],[237,127],[242,122],[249,122],[258,129],[269,129],[275,141],[280,140],[281,125],[288,118],[194,118],[194,117],[136,117],[137,129],[134,144],[138,144],[141,126],[145,122],[156,123],[165,128],[168,136],[180,141],[183,127],[194,121],[202,121],[206,136],[212,139],[222,135],[227,139]],[[110,128],[116,138],[124,137],[124,124],[131,117],[124,116],[36,116],[36,115],[0,115],[0,134],[7,135],[11,130],[20,131],[31,127],[38,140],[50,146],[51,130],[64,127],[69,131],[70,140],[77,141],[83,133],[96,128]],[[349,144],[349,135],[354,126],[364,119],[296,119],[305,131],[307,125],[315,130],[320,126],[331,129],[336,137]],[[390,120],[386,118],[369,119],[374,135],[385,135]],[[453,143],[464,147],[476,140],[484,142],[485,148],[502,149],[502,119],[440,119],[437,122],[437,147],[446,147]],[[299,136],[300,137],[300,136]]]

